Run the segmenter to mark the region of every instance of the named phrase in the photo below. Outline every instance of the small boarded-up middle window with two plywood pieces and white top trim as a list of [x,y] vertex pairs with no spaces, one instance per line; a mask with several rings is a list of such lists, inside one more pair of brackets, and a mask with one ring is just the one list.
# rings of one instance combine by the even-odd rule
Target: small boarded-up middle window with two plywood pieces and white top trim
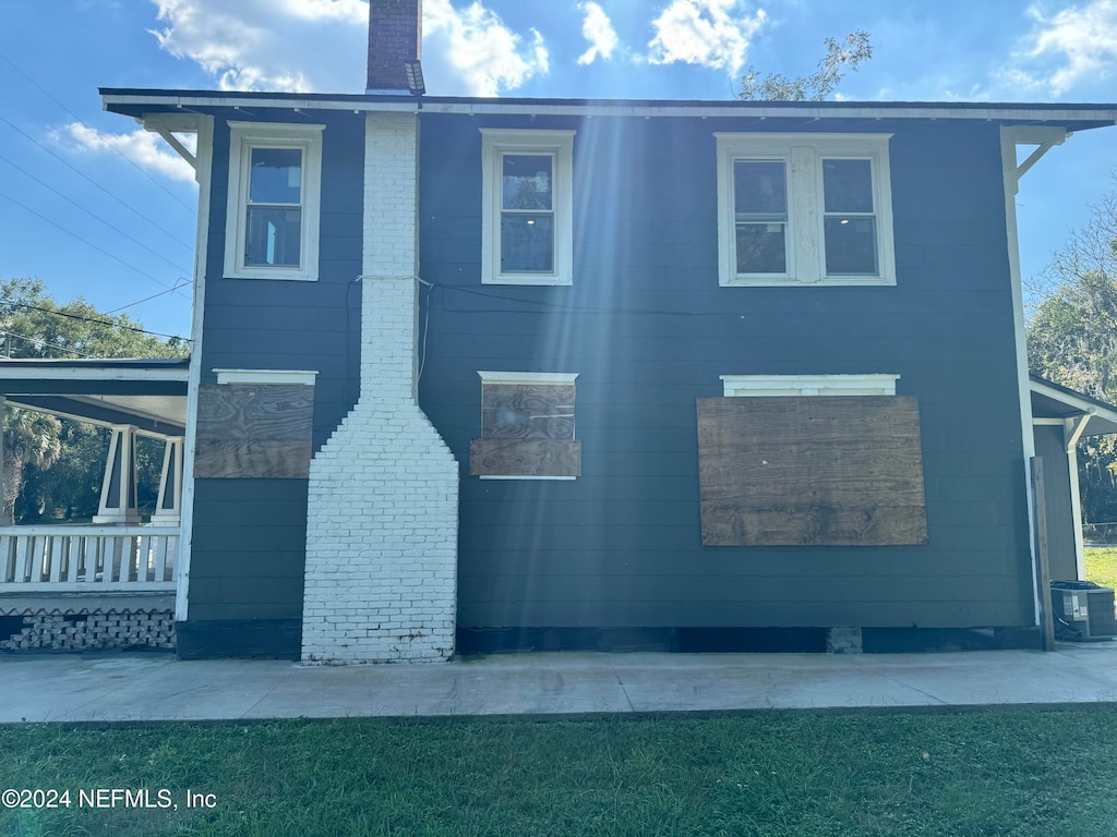
[[574,437],[574,378],[564,373],[481,372],[481,437],[469,443],[474,477],[566,478],[582,473]]

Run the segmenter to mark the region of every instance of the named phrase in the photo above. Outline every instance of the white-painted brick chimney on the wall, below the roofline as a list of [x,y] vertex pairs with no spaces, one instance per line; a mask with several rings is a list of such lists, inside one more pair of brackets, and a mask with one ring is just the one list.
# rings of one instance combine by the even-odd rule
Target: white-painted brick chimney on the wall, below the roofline
[[417,125],[366,132],[361,397],[311,462],[306,663],[454,653],[458,464],[413,394]]

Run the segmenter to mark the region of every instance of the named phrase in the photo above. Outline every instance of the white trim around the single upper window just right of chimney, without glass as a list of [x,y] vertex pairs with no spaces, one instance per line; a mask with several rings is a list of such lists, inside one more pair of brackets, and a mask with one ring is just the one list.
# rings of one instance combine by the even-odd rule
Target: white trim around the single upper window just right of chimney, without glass
[[[574,133],[480,128],[481,283],[574,283]],[[500,272],[500,155],[554,154],[552,200],[555,218],[554,270],[551,273]]]

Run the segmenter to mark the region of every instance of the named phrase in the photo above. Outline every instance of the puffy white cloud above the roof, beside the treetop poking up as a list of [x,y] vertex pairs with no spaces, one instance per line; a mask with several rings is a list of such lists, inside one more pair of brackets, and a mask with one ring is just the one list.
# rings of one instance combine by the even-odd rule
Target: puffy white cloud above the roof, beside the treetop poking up
[[652,64],[684,61],[728,70],[745,64],[750,39],[767,20],[763,9],[750,16],[741,0],[671,0],[651,26]]

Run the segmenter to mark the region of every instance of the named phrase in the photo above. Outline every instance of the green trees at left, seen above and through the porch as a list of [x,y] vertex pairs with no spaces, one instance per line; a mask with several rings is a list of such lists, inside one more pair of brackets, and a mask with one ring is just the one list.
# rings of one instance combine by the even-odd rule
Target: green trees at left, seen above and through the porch
[[[0,281],[0,349],[17,358],[183,357],[187,344],[145,334],[127,316],[101,314],[84,299],[58,305],[38,279],[9,279]],[[95,513],[108,452],[104,429],[6,407],[3,445],[0,521],[38,520],[57,508],[67,519]],[[140,458],[144,484],[157,482],[162,464],[146,453]]]

